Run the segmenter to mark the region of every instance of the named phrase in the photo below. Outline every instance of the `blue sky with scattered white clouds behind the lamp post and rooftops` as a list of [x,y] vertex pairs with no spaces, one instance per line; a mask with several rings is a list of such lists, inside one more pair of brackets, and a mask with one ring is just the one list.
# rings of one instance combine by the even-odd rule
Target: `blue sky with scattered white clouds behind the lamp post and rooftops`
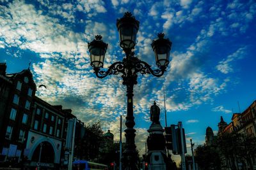
[[120,75],[95,76],[87,44],[97,34],[108,43],[104,70],[122,60],[116,19],[126,11],[140,21],[135,55],[152,68],[157,68],[151,47],[157,34],[164,32],[173,43],[166,73],[160,78],[139,74],[134,86],[140,153],[145,152],[154,101],[164,126],[164,89],[167,124],[182,122],[188,151],[189,139],[204,144],[208,126],[216,134],[221,116],[229,123],[232,113],[256,99],[253,0],[0,0],[0,62],[6,62],[7,73],[27,69],[31,62],[36,96],[72,109],[86,124],[100,121],[118,141],[120,115],[125,129],[126,87]]

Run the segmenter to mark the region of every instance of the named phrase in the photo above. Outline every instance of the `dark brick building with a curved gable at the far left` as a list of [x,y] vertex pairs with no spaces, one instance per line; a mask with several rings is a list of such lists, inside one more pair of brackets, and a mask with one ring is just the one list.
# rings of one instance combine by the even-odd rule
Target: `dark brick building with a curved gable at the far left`
[[6,64],[0,64],[0,167],[20,167],[24,160],[35,90],[29,68],[6,74]]

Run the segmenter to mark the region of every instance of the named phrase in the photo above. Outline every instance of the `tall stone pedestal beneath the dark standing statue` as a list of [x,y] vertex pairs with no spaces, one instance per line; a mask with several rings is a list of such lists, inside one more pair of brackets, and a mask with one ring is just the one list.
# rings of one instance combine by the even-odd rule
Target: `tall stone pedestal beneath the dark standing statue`
[[166,150],[163,127],[161,124],[153,123],[148,129],[148,169],[166,170]]

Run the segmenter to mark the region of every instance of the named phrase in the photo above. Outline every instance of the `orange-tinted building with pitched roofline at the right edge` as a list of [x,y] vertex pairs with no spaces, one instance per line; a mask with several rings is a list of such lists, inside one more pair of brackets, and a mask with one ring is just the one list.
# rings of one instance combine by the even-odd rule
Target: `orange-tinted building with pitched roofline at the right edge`
[[[232,166],[236,166],[236,169],[256,169],[256,155],[255,155],[255,146],[256,143],[256,101],[253,101],[252,104],[242,113],[234,113],[231,118],[231,122],[227,124],[224,122],[223,117],[218,124],[219,132],[218,136],[224,136],[225,134],[239,134],[240,147],[244,152],[244,155],[234,155],[234,160],[230,161],[230,158],[226,158],[221,155],[222,165],[221,169],[229,170],[232,169]],[[248,140],[251,140],[248,142]],[[252,148],[250,148],[252,146]],[[234,148],[234,150],[237,150]],[[252,151],[252,153],[251,153]],[[248,155],[248,157],[246,157]]]

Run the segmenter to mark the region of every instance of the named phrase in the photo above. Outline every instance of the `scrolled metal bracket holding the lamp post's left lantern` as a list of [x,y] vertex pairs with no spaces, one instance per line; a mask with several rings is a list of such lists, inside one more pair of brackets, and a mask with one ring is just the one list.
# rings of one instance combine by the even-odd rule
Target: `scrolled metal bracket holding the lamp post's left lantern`
[[100,68],[93,68],[98,78],[104,78],[111,74],[115,74],[115,75],[119,73],[125,74],[124,69],[125,67],[123,62],[113,63],[111,66],[109,66],[107,71],[100,70]]

